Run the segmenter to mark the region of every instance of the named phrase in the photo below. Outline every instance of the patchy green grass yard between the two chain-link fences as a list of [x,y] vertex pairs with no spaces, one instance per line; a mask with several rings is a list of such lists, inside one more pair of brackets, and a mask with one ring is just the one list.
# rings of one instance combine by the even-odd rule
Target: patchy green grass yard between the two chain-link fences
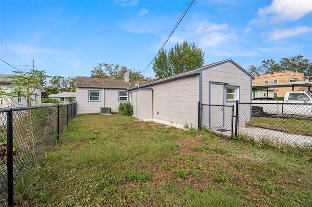
[[310,151],[99,114],[77,116],[60,140],[20,205],[312,206]]

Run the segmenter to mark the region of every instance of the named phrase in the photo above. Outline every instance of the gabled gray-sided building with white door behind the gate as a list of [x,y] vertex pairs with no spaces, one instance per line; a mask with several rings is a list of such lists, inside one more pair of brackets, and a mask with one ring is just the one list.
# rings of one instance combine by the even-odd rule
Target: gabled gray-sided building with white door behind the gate
[[[140,86],[131,86],[128,90],[137,119],[169,121],[196,128],[199,104],[235,105],[236,101],[251,103],[252,80],[254,77],[249,72],[232,59],[227,59]],[[225,121],[231,124],[231,120],[225,120],[225,117],[231,116],[225,116],[223,107],[219,109],[205,117],[210,122],[209,128],[222,128]],[[250,115],[251,111],[241,113]],[[239,123],[245,124],[245,120]]]

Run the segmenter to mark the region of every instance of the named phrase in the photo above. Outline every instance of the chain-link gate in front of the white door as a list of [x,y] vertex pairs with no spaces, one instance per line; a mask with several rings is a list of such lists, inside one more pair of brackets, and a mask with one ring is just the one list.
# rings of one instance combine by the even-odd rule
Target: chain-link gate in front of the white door
[[201,104],[201,128],[206,128],[218,136],[232,138],[234,105]]

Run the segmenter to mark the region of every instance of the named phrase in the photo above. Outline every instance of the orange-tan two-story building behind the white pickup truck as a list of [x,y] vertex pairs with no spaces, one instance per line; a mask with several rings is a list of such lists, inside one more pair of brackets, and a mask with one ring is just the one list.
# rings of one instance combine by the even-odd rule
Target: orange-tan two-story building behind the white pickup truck
[[[274,72],[274,73],[262,74],[259,76],[254,76],[254,78],[255,79],[253,81],[253,85],[310,81],[309,77],[304,76],[303,73],[293,72],[289,70],[286,72]],[[268,97],[283,97],[285,96],[287,91],[292,91],[292,88],[290,88],[289,86],[271,87],[270,89],[274,90],[273,94],[272,93],[266,94],[267,92],[266,90],[263,90],[262,94],[266,94],[268,95]],[[307,91],[308,87],[294,86],[294,91],[302,91],[302,90]],[[261,97],[261,95],[259,97]]]

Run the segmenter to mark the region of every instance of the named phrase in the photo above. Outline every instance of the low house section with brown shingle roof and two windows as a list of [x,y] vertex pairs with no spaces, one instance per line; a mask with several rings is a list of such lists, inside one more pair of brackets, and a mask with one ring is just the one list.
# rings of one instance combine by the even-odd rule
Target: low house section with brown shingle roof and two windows
[[147,81],[131,81],[125,73],[122,79],[104,79],[76,77],[76,102],[78,114],[100,113],[102,107],[111,108],[111,112],[118,112],[122,102],[129,102],[127,88]]

